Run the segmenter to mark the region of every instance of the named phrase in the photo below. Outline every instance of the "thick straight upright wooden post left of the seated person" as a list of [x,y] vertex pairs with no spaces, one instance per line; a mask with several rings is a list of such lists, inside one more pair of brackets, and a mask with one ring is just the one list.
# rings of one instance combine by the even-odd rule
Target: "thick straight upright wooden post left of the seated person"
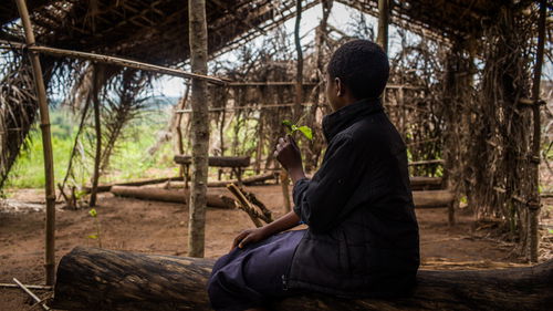
[[[205,0],[188,0],[188,19],[191,70],[194,73],[207,74],[208,46]],[[189,200],[188,256],[204,257],[209,147],[206,81],[192,79],[191,91],[192,176]]]

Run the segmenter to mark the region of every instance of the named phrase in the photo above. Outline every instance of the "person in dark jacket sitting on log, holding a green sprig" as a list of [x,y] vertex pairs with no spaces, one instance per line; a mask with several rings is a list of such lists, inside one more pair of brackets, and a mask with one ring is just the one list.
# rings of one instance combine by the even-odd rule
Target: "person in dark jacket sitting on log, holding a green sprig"
[[[293,211],[236,237],[208,282],[213,309],[263,310],[310,292],[396,297],[414,287],[418,225],[406,146],[380,103],[388,75],[387,55],[371,41],[334,52],[321,167],[306,178],[294,139],[279,138],[274,156],[293,182]],[[307,229],[286,231],[300,224]]]

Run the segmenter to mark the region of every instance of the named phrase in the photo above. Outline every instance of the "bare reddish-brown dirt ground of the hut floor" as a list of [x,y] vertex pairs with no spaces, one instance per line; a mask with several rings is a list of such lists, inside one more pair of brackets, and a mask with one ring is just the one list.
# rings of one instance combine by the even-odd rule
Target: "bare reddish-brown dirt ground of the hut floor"
[[[216,188],[221,194],[225,188]],[[281,186],[248,187],[275,216],[283,214]],[[40,190],[19,190],[11,198],[39,203]],[[61,206],[61,205],[60,205]],[[27,284],[41,284],[43,277],[44,212],[0,209],[0,282],[18,278]],[[147,253],[186,256],[188,210],[185,205],[146,201],[102,194],[96,208],[101,221],[102,247]],[[462,210],[458,224],[447,225],[447,210],[417,209],[420,226],[422,267],[427,269],[482,269],[523,265],[513,256],[513,243],[500,241],[494,222],[474,225]],[[240,210],[209,208],[207,211],[206,257],[216,258],[229,250],[234,236],[252,227]],[[88,209],[56,211],[56,260],[76,246],[97,246]],[[550,235],[551,236],[551,235]],[[551,245],[549,245],[551,246]],[[545,247],[549,247],[545,246]],[[551,249],[542,249],[551,253]],[[41,298],[49,292],[35,291]],[[32,301],[20,289],[0,288],[0,310],[29,310]]]

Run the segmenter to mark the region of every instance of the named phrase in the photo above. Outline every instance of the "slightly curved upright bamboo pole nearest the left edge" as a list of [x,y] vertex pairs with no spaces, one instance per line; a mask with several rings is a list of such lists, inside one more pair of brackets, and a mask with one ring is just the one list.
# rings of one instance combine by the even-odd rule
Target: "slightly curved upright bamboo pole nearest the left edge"
[[[25,33],[27,44],[34,45],[34,33],[32,31],[31,19],[27,10],[24,0],[17,0],[21,23]],[[42,132],[42,148],[44,152],[44,173],[45,173],[45,191],[46,191],[46,220],[45,220],[45,245],[44,245],[44,268],[46,273],[46,286],[52,286],[55,278],[55,180],[54,180],[54,162],[52,155],[52,137],[50,135],[50,115],[48,111],[46,89],[42,77],[42,68],[40,65],[39,54],[30,51],[34,87],[36,90],[36,99],[39,100],[39,112]]]

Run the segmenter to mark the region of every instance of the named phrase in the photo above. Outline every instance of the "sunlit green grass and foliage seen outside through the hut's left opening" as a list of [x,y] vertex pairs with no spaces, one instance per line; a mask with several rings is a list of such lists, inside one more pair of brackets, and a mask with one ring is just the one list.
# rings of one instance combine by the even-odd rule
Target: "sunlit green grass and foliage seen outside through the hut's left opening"
[[[62,108],[52,110],[51,120],[54,176],[55,182],[60,183],[67,169],[77,125]],[[173,163],[174,152],[170,144],[165,144],[155,156],[147,153],[157,138],[156,133],[165,126],[167,126],[167,115],[159,111],[150,111],[146,117],[132,122],[124,129],[117,148],[111,157],[109,169],[102,176],[101,183],[166,177],[167,169],[173,168],[178,172],[178,167],[175,167]],[[86,153],[93,153],[85,139],[82,144]],[[82,160],[82,155],[77,154],[77,157]],[[45,184],[43,164],[41,132],[34,128],[29,135],[29,146],[21,151],[10,172],[6,187],[43,188]],[[87,184],[92,176],[93,159],[90,155],[84,159],[84,165],[76,180],[82,185]],[[77,194],[77,196],[82,195]]]

